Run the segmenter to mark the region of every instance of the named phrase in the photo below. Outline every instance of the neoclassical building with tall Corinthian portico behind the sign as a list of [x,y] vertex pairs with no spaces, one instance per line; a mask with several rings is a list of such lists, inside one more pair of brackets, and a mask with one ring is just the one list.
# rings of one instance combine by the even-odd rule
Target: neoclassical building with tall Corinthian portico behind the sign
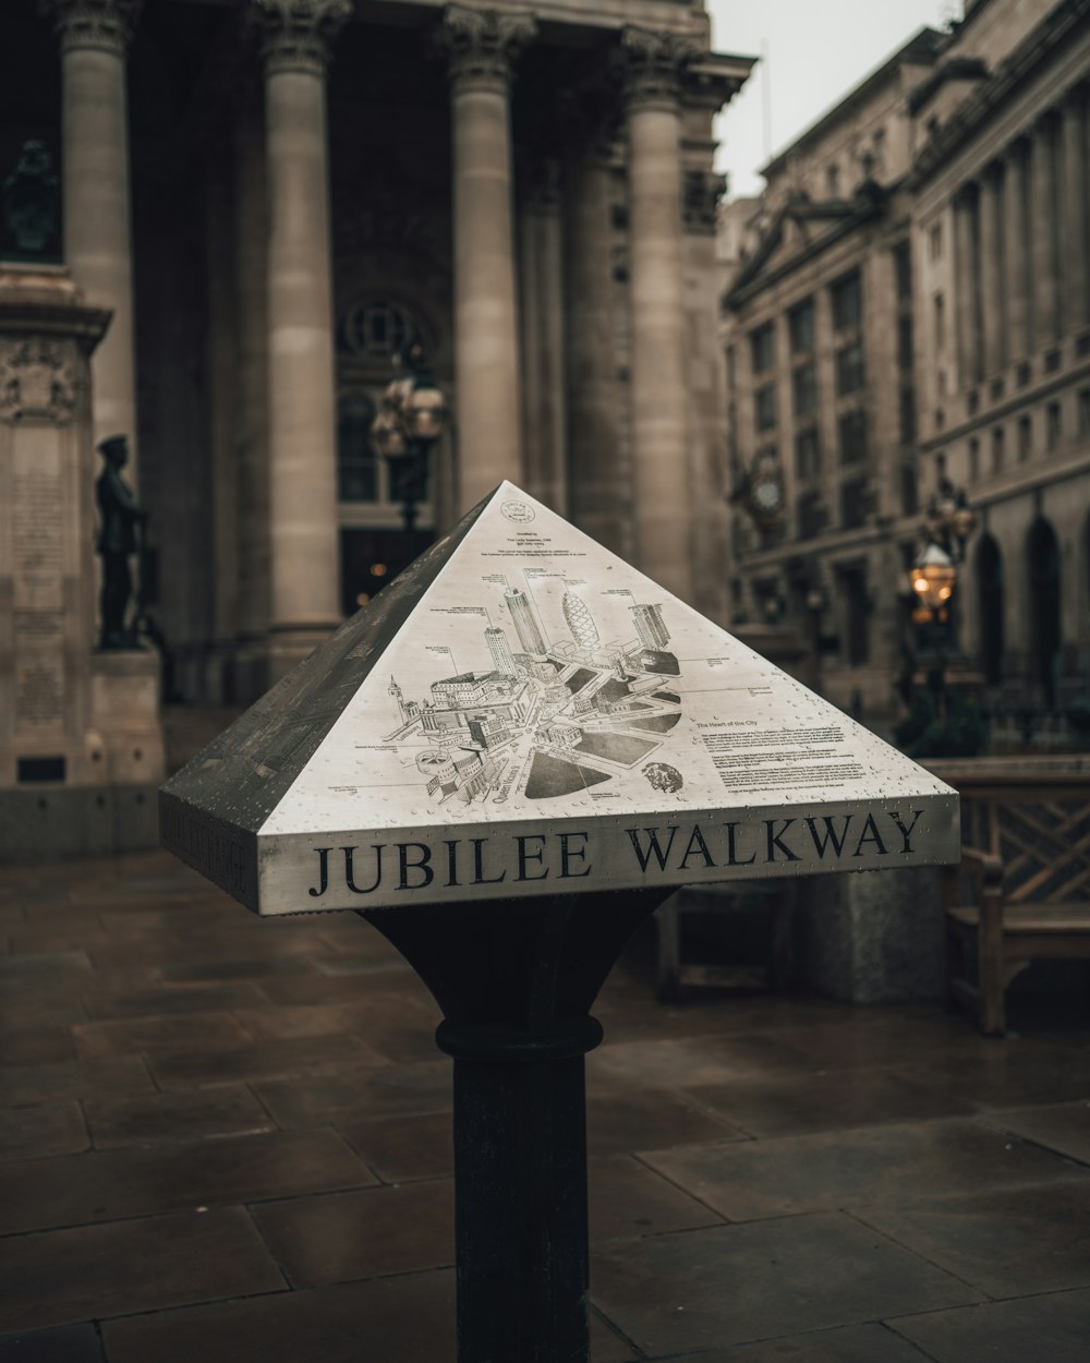
[[752,61],[699,0],[10,0],[4,33],[0,260],[112,312],[95,436],[178,698],[253,698],[402,564],[369,427],[414,334],[454,412],[425,532],[508,477],[723,617],[711,120]]

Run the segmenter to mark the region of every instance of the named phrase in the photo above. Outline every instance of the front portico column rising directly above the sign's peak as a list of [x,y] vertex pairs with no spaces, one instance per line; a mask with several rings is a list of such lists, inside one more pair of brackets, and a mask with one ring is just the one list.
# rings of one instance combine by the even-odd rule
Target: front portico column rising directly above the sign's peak
[[535,31],[530,18],[448,5],[439,34],[451,80],[461,511],[523,477],[511,79]]

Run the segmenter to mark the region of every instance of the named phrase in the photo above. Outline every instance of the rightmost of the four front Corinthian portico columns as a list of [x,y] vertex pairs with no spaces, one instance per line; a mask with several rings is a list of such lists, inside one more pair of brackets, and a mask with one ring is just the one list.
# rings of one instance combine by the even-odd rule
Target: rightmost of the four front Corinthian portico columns
[[695,49],[627,29],[636,563],[692,597],[681,232],[681,75]]

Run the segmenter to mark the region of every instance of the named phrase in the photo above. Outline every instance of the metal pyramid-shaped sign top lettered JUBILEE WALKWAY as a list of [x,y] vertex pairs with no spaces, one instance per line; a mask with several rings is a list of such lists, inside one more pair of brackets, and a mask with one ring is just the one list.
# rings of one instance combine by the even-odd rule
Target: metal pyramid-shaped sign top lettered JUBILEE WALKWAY
[[958,797],[510,483],[193,758],[259,913],[958,859]]

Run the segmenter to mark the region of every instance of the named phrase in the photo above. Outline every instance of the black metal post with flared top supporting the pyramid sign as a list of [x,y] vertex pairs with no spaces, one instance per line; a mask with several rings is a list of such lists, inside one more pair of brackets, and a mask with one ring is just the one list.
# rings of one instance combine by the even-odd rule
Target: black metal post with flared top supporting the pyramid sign
[[364,913],[454,1058],[459,1363],[589,1363],[590,1006],[669,889]]

